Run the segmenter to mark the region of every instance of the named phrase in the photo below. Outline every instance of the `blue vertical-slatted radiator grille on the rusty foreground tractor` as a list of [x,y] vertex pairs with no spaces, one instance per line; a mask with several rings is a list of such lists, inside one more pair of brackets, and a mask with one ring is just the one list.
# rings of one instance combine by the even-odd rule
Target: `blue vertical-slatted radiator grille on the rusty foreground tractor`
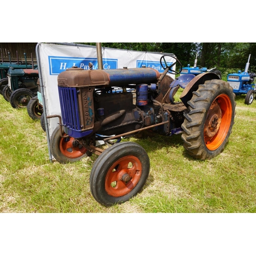
[[76,88],[58,87],[62,123],[71,130],[81,131]]

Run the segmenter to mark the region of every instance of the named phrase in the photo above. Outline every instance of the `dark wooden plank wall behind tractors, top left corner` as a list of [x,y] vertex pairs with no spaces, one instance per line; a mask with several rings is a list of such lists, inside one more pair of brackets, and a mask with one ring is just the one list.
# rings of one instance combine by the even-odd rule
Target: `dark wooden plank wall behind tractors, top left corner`
[[31,62],[31,53],[34,63],[36,63],[35,47],[37,42],[0,42],[0,62],[9,61],[8,52],[11,54],[11,61],[25,61],[24,53],[27,53],[27,61]]

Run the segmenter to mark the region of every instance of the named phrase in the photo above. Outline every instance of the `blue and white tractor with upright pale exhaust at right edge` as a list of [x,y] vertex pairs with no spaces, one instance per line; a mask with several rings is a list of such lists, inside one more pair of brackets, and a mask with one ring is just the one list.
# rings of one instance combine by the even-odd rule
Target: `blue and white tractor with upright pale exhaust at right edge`
[[234,94],[246,94],[244,103],[247,105],[252,103],[256,90],[254,83],[254,78],[256,77],[256,74],[251,72],[248,73],[250,66],[250,56],[251,55],[249,55],[248,62],[245,65],[244,72],[241,72],[241,70],[239,70],[238,73],[228,74],[227,76],[227,81],[233,88]]

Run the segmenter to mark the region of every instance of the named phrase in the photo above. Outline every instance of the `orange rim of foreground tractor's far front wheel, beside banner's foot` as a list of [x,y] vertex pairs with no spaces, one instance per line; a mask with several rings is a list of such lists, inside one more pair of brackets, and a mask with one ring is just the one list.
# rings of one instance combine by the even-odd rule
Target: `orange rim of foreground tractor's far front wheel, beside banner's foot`
[[[66,135],[66,134],[64,134]],[[60,138],[59,147],[60,152],[69,158],[78,158],[87,152],[87,149],[82,145],[74,145],[75,139],[73,137]]]

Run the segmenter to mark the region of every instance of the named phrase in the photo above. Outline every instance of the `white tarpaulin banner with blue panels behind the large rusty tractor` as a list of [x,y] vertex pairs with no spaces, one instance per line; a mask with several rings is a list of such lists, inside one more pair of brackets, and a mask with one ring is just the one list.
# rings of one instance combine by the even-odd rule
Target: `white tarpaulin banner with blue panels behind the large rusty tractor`
[[[140,68],[146,66],[162,73],[164,71],[160,65],[160,57],[162,55],[162,53],[102,48],[102,66],[103,69]],[[85,70],[89,69],[89,62],[93,64],[93,69],[98,69],[97,49],[93,46],[77,44],[38,43],[36,57],[44,116],[61,116],[57,86],[58,75],[73,66]],[[175,78],[174,75],[170,76]],[[45,118],[48,148],[51,134],[58,126],[58,122],[58,118]],[[50,149],[49,156],[52,159]]]

